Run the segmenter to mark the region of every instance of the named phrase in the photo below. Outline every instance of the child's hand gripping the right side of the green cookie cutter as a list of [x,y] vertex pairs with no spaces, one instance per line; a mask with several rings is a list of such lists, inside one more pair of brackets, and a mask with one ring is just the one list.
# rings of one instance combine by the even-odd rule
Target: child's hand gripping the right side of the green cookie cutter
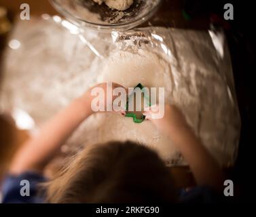
[[[154,111],[152,108],[154,107]],[[185,130],[189,126],[185,120],[185,117],[176,106],[165,104],[164,106],[164,117],[161,119],[154,119],[154,114],[158,113],[158,105],[151,106],[149,111],[144,111],[143,115],[146,116],[147,120],[150,120],[160,132],[169,135],[170,131]],[[170,135],[169,135],[170,136]]]

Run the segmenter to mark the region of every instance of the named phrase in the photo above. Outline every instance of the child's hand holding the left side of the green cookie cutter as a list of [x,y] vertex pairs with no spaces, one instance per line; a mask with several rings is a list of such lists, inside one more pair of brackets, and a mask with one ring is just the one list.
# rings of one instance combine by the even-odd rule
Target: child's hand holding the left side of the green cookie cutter
[[[94,111],[92,110],[92,100],[94,100],[94,98],[96,98],[97,96],[93,96],[92,94],[92,90],[95,90],[94,88],[102,88],[104,91],[104,97],[105,97],[105,111],[107,111],[107,107],[111,107],[113,109],[113,101],[115,100],[115,98],[117,98],[118,96],[113,96],[113,92],[112,92],[112,100],[107,100],[107,85],[109,85],[107,82],[106,83],[100,83],[98,85],[95,85],[94,87],[90,88],[90,90],[88,90],[88,92],[86,92],[86,94],[84,94],[84,96],[82,96],[82,98],[84,99],[84,101],[86,102],[86,108],[88,109],[88,111],[90,111],[90,115],[92,113],[94,113]],[[124,88],[124,90],[127,93],[127,90],[125,89],[125,87],[123,87],[122,85],[118,84],[118,83],[112,83],[112,90],[114,90],[116,87],[122,87]],[[107,106],[108,103],[111,103]],[[122,109],[122,111],[119,112],[121,115],[125,115],[125,110]]]

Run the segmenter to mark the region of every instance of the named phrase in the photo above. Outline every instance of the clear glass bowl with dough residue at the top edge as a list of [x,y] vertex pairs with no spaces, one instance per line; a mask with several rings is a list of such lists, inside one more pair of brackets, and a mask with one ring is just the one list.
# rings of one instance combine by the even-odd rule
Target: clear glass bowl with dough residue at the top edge
[[92,0],[50,0],[67,20],[77,26],[101,31],[126,31],[145,22],[156,12],[162,0],[134,0],[124,12],[110,9]]

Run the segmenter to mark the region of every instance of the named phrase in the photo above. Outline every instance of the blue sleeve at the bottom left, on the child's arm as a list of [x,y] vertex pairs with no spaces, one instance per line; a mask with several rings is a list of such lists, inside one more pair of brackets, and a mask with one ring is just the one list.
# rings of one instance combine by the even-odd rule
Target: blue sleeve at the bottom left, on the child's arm
[[[22,180],[29,181],[29,195],[22,196]],[[38,184],[46,179],[35,172],[24,172],[19,176],[7,175],[2,184],[2,203],[43,203],[43,196],[38,195]]]

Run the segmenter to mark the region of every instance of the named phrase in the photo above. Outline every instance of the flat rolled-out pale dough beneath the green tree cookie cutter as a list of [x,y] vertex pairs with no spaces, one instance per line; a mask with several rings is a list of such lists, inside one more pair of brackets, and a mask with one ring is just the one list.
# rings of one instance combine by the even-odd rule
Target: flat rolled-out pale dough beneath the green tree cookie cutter
[[[120,51],[112,54],[98,77],[99,83],[103,81],[113,81],[125,87],[134,87],[138,83],[145,87],[165,87],[166,100],[172,88],[169,64],[157,54],[145,50],[139,50],[139,54]],[[150,121],[134,123],[132,118],[115,113],[97,115],[103,120],[98,128],[100,142],[132,140],[157,151],[166,163],[179,158],[172,142],[162,136]]]

